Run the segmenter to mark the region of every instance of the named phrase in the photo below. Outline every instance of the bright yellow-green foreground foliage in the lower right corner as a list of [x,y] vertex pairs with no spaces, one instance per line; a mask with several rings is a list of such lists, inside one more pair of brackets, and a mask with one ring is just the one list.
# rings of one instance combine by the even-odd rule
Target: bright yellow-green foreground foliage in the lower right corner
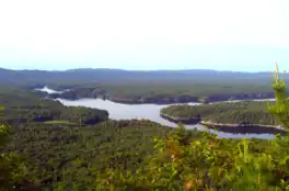
[[[266,143],[257,150],[256,141],[233,142],[204,133],[189,139],[180,127],[165,138],[155,138],[158,153],[147,167],[135,172],[106,171],[97,177],[102,189],[115,190],[282,190],[289,139]],[[278,155],[276,155],[278,153]]]

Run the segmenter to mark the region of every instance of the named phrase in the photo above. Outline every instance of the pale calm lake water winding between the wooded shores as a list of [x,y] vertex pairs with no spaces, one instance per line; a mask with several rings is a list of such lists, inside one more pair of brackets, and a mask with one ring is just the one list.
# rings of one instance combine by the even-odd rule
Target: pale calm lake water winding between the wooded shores
[[[59,91],[51,90],[47,87],[39,89],[41,91],[46,91],[48,93],[55,93]],[[162,108],[167,105],[158,105],[158,104],[123,104],[123,103],[115,103],[109,100],[102,100],[102,99],[80,99],[80,100],[65,100],[65,99],[57,99],[63,105],[67,106],[88,106],[88,108],[97,108],[108,111],[109,117],[114,120],[132,120],[132,119],[146,119],[150,120],[163,125],[175,127],[176,124],[169,122],[160,116],[160,111]],[[256,100],[262,101],[262,100]],[[192,105],[200,104],[200,103],[188,103]],[[217,132],[213,130],[208,130],[207,127],[197,124],[197,125],[185,125],[188,130],[197,128],[199,131],[209,131],[213,134],[217,134],[219,137],[224,138],[274,138],[275,136],[271,134],[232,134],[232,133],[224,133],[224,132]]]

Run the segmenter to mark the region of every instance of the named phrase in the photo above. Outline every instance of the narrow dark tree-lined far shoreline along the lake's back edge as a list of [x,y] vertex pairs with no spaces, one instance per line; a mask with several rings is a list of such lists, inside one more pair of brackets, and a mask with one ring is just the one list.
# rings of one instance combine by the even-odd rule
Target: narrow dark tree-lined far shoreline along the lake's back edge
[[[49,86],[43,87],[43,89],[49,89]],[[36,91],[42,91],[49,99],[66,99],[69,101],[76,101],[79,99],[102,99],[109,100],[115,103],[122,104],[157,104],[157,105],[166,105],[166,104],[186,104],[186,103],[200,103],[200,104],[210,104],[218,102],[231,102],[231,101],[251,101],[251,100],[271,100],[275,99],[274,92],[252,92],[252,93],[235,93],[235,94],[212,94],[208,97],[194,97],[194,96],[175,96],[175,97],[158,97],[158,98],[118,98],[113,97],[107,93],[105,94],[94,94],[86,93],[85,96],[74,94],[73,91],[69,89],[58,88],[57,90],[51,89],[56,92],[49,93],[43,91],[41,88],[34,89]],[[72,94],[66,94],[72,92]],[[264,94],[262,94],[264,93]]]

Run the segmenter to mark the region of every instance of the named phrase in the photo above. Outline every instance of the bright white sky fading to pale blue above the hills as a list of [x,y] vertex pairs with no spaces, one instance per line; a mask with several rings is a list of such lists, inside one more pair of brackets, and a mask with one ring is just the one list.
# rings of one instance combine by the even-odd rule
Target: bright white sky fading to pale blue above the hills
[[289,70],[289,0],[0,1],[0,67]]

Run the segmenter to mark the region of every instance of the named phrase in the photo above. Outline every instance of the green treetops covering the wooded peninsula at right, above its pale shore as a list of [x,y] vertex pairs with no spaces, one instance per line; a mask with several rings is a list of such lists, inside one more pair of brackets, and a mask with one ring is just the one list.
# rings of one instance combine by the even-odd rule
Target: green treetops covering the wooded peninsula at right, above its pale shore
[[200,117],[212,123],[280,125],[280,122],[267,111],[265,101],[170,105],[162,109],[161,113],[176,119]]

